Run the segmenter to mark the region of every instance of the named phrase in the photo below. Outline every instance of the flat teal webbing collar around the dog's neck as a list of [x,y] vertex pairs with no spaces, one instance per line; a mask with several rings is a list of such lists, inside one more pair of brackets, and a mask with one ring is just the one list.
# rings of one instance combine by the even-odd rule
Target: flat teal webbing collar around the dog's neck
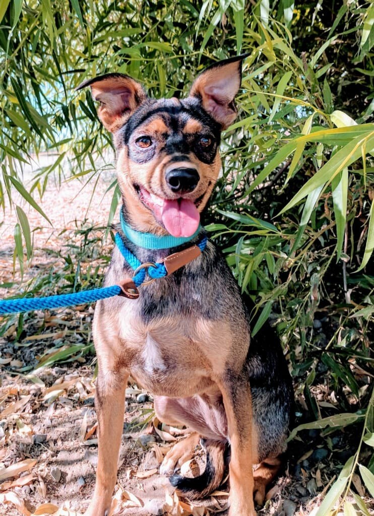
[[142,231],[136,231],[135,229],[131,228],[123,217],[122,208],[120,211],[120,219],[121,228],[125,237],[136,246],[143,247],[144,249],[170,249],[172,247],[178,247],[192,240],[202,230],[202,227],[199,224],[198,229],[191,236],[157,236],[153,233],[143,233]]

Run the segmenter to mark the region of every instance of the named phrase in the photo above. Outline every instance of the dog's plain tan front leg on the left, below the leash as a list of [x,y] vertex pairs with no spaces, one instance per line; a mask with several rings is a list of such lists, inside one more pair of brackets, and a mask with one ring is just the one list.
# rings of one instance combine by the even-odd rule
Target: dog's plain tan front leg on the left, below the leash
[[95,492],[85,516],[109,514],[117,479],[127,379],[127,372],[108,371],[99,363],[95,397],[99,455]]

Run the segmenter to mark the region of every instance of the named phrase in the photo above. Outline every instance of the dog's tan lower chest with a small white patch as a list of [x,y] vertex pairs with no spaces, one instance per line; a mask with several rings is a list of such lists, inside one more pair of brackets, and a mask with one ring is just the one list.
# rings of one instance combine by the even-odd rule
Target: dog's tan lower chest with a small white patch
[[222,325],[175,314],[144,322],[135,307],[120,317],[120,338],[131,375],[150,392],[169,396],[204,392],[231,346]]

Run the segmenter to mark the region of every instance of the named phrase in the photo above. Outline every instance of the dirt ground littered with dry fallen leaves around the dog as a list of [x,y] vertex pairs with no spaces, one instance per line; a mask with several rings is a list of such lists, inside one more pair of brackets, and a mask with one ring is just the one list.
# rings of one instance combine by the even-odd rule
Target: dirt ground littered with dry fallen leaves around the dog
[[[66,249],[67,242],[79,244],[82,235],[76,233],[77,228],[90,222],[105,227],[111,193],[104,198],[103,193],[110,181],[100,180],[93,194],[89,185],[79,196],[75,182],[64,183],[59,190],[52,184],[42,206],[52,219],[53,229],[34,209],[23,205],[30,226],[39,228],[34,232],[35,254],[25,271],[26,283],[37,275],[45,275],[47,270],[63,267],[64,260],[57,251]],[[20,281],[19,272],[13,275],[15,221],[14,211],[8,210],[0,226],[0,283],[7,284],[7,288],[1,289],[1,297],[15,292],[12,283]],[[108,240],[104,250],[109,253],[110,247]],[[51,253],[51,249],[55,252]],[[101,271],[106,262],[99,259],[97,263]],[[79,307],[36,312],[24,319],[0,316],[0,327],[6,325],[0,337],[2,516],[78,515],[89,503],[97,461],[92,314],[92,307]],[[59,363],[63,357],[66,361]],[[321,404],[330,402],[331,393],[321,393],[316,393]],[[302,402],[299,410],[303,410]],[[162,457],[176,440],[183,438],[180,433],[179,429],[154,420],[151,394],[131,382],[126,391],[112,514],[227,514],[226,484],[207,500],[191,504],[178,498],[168,479],[158,474]],[[331,446],[327,446],[314,430],[303,434],[303,439],[294,439],[284,470],[268,492],[259,516],[316,514],[342,463],[352,455],[350,439],[349,431],[332,434]],[[333,453],[336,451],[337,454]],[[199,457],[198,466],[202,467],[202,451]],[[185,465],[183,470],[187,475],[196,472],[189,466]],[[357,492],[366,497],[358,477],[356,483]]]

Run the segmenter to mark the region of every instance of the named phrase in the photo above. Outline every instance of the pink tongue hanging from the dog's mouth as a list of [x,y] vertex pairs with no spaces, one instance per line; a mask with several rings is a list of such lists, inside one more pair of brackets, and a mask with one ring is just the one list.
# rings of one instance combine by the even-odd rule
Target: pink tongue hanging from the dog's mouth
[[200,214],[188,199],[164,200],[161,214],[165,228],[173,236],[191,236],[198,229]]

